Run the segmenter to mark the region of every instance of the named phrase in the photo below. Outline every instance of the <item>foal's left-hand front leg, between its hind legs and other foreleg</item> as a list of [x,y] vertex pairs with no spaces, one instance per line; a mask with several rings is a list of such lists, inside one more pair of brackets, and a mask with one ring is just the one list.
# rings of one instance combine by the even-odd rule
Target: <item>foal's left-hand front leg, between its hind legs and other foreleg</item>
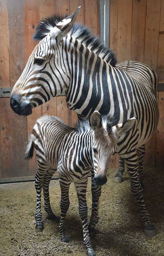
[[61,241],[68,243],[69,239],[66,237],[65,216],[70,206],[69,188],[70,188],[71,182],[59,179],[59,183],[61,188],[61,201],[60,201],[61,218],[60,218],[60,224],[59,224],[59,231],[61,233]]

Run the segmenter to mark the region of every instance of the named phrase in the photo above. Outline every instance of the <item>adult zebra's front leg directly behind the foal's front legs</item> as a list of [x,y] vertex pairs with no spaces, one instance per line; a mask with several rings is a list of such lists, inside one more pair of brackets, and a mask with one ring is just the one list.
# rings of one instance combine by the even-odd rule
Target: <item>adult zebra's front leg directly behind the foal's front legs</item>
[[99,198],[101,196],[101,186],[96,186],[95,181],[94,181],[94,173],[92,172],[92,186],[91,186],[91,191],[92,191],[92,213],[90,217],[90,222],[89,222],[89,233],[90,236],[95,235],[95,225],[99,221]]

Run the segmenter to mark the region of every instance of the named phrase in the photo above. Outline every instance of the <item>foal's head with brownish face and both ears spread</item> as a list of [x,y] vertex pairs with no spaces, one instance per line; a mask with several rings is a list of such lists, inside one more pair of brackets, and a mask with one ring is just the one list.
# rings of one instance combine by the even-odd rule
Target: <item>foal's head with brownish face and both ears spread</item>
[[128,119],[124,124],[112,126],[108,116],[102,116],[94,111],[89,123],[93,130],[94,152],[94,181],[102,186],[107,182],[107,170],[112,156],[117,152],[117,140],[130,132],[136,122],[136,118]]

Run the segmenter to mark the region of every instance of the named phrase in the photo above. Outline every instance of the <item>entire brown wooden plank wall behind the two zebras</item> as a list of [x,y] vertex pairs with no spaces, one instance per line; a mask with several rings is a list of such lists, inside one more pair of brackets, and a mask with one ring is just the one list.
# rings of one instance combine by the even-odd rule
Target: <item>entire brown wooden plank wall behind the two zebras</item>
[[[81,5],[77,20],[99,35],[99,0],[0,0],[0,87],[12,87],[21,75],[36,42],[32,35],[38,21],[55,12],[72,13]],[[110,48],[118,63],[137,60],[151,66],[164,82],[164,0],[110,0]],[[163,166],[164,92],[158,92],[160,122],[148,142],[145,165]],[[44,114],[57,115],[74,125],[65,97],[56,97],[33,110],[28,117],[16,115],[9,98],[0,98],[1,178],[33,176],[36,160],[25,161],[24,152],[35,120]],[[118,157],[112,160],[112,167]]]

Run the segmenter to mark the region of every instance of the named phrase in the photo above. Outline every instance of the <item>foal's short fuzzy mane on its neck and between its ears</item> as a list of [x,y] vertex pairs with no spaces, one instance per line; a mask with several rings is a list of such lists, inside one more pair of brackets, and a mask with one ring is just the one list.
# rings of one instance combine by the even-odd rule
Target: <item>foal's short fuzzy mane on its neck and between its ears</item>
[[[106,127],[108,133],[112,132],[113,125],[112,125],[109,115],[102,116],[102,125],[103,125],[103,127]],[[76,123],[76,126],[75,126],[75,130],[78,133],[90,132],[92,129],[89,124],[89,119],[78,120],[78,122]]]

